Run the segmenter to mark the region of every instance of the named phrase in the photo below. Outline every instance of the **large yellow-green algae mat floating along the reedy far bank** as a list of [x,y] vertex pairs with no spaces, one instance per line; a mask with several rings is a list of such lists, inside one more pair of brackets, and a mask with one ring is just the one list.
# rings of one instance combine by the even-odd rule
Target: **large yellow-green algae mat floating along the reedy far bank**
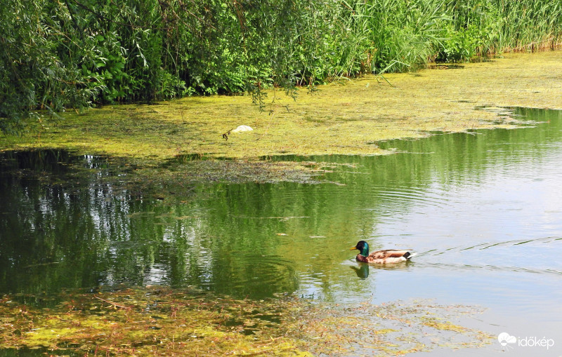
[[[65,114],[0,149],[51,147],[136,159],[178,154],[253,159],[278,154],[382,154],[381,140],[433,131],[511,128],[516,119],[481,106],[562,109],[562,52],[509,54],[488,62],[344,80],[268,93],[266,112],[247,96],[188,97]],[[222,134],[239,125],[253,131]]]

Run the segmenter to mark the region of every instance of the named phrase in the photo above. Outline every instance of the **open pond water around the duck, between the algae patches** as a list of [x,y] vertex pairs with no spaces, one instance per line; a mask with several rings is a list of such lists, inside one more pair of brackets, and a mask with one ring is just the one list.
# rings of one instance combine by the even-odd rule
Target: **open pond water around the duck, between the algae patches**
[[[494,335],[555,343],[455,356],[561,356],[562,112],[505,110],[525,127],[380,143],[396,149],[388,156],[274,157],[321,163],[318,183],[178,184],[158,198],[119,184],[131,173],[104,158],[7,152],[0,294],[169,285],[338,304],[433,299],[485,308],[469,324]],[[359,240],[417,256],[358,264]]]

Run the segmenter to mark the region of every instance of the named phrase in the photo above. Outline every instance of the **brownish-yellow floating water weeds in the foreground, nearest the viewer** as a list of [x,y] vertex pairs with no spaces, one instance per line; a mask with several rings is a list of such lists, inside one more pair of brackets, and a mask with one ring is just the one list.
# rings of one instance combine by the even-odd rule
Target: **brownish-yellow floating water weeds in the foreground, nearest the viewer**
[[0,311],[2,349],[53,355],[311,356],[374,349],[396,356],[437,344],[490,342],[483,332],[449,322],[478,309],[426,302],[342,308],[287,297],[253,301],[149,287],[4,296]]

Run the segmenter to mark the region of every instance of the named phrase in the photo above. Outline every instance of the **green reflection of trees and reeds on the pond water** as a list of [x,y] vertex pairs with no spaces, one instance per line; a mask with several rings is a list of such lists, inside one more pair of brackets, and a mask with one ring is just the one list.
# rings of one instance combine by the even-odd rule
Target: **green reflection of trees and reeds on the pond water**
[[[433,196],[435,185],[478,184],[490,165],[525,162],[529,154],[540,159],[561,133],[560,114],[549,113],[525,112],[550,120],[546,130],[383,144],[425,154],[306,158],[346,163],[325,173],[346,186],[215,184],[165,201],[105,180],[113,175],[110,165],[93,156],[6,153],[0,160],[0,291],[165,283],[259,297],[299,284],[325,295],[334,283],[359,288],[346,281],[357,279],[349,268],[334,268],[352,258],[349,243],[360,238],[374,249],[389,248],[379,246],[377,225],[400,220],[413,204],[446,204]],[[75,160],[81,170],[67,166]]]

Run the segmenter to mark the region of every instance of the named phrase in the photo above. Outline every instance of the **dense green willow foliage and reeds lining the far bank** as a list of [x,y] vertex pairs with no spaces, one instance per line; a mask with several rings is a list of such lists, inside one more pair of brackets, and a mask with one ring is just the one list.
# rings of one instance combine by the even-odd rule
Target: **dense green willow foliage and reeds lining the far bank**
[[97,103],[313,86],[556,46],[546,0],[6,0],[0,129]]

